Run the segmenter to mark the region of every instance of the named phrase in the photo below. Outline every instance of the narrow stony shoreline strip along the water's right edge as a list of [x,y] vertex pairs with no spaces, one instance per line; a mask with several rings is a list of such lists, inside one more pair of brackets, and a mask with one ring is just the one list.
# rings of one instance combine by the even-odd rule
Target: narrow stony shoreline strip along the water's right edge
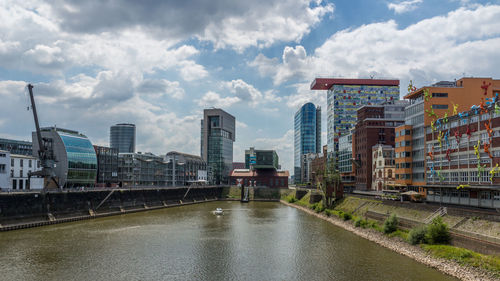
[[456,277],[460,280],[485,280],[485,281],[493,281],[498,280],[492,273],[474,268],[471,266],[463,266],[458,264],[457,262],[435,258],[427,254],[422,248],[418,246],[412,246],[404,241],[401,241],[397,237],[388,237],[384,234],[374,230],[374,229],[365,229],[360,227],[355,227],[350,221],[344,221],[340,218],[336,217],[328,217],[323,213],[316,213],[315,211],[304,207],[299,206],[293,203],[288,203],[284,200],[281,200],[282,204],[287,206],[297,208],[302,210],[310,215],[316,216],[320,219],[326,220],[338,227],[341,227],[349,232],[352,232],[360,237],[363,237],[367,240],[377,243],[380,246],[393,250],[401,255],[412,258],[422,264],[435,268],[443,273]]

